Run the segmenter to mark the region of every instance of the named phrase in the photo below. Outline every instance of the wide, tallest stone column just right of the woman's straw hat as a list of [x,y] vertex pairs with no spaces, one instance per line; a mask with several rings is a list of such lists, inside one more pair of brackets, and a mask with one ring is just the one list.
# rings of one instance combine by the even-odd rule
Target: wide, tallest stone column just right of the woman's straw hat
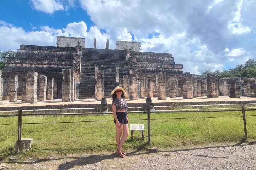
[[138,100],[137,71],[129,71],[129,98],[130,100]]

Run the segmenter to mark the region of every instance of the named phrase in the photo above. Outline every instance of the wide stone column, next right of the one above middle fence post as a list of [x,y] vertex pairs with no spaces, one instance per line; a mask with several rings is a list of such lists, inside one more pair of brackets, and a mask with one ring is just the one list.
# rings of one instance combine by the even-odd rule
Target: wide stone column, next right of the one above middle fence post
[[166,73],[159,72],[158,73],[158,99],[164,100],[166,99]]

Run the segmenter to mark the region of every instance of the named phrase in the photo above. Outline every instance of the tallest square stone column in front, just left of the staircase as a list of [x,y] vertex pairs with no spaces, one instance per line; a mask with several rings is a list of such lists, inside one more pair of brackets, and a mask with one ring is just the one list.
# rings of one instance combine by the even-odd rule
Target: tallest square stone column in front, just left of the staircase
[[62,102],[71,101],[71,70],[62,69]]

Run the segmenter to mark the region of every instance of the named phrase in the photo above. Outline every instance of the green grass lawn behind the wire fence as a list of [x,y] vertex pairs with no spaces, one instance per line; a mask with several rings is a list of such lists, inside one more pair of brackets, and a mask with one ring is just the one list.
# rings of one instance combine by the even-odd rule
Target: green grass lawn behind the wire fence
[[[241,115],[241,111],[151,114],[151,146],[146,144],[147,138],[145,137],[145,141],[143,141],[142,135],[136,131],[135,140],[131,141],[128,137],[124,144],[124,150],[139,150],[149,147],[158,147],[163,150],[171,147],[180,148],[211,143],[239,143],[244,137]],[[246,115],[254,115],[254,112],[246,111]],[[134,120],[146,119],[146,114],[129,114],[129,118],[130,124],[144,124],[145,136],[147,136],[147,120]],[[22,138],[33,138],[32,149],[24,152],[23,157],[45,158],[56,154],[114,152],[116,148],[116,132],[112,115],[24,116],[22,119]],[[96,122],[25,124],[67,121]],[[254,133],[256,117],[246,117],[246,122],[249,140],[256,140]],[[0,124],[17,124],[17,117],[2,117]],[[0,127],[1,155],[15,150],[17,125],[0,125]],[[52,149],[52,151],[37,148]]]

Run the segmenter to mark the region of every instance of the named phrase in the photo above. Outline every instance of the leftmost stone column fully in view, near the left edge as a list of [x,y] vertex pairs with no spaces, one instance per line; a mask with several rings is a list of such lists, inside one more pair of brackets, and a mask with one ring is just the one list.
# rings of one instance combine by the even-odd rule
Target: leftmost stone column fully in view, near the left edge
[[9,77],[9,90],[10,90],[9,102],[17,102],[18,100],[18,76],[17,75],[11,75]]

